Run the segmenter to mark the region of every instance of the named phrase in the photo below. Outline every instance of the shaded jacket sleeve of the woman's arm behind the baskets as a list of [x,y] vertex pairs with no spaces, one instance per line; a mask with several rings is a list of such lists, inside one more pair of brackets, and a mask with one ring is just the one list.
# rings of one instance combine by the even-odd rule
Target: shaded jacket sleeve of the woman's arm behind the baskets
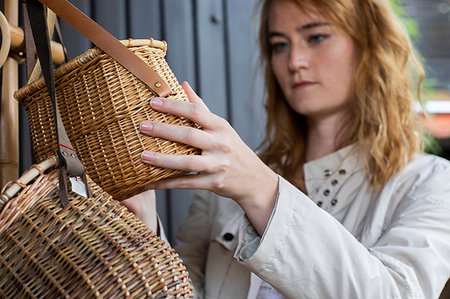
[[205,266],[208,254],[211,221],[209,193],[197,192],[192,200],[189,216],[177,232],[174,247],[188,269],[195,298],[204,298]]

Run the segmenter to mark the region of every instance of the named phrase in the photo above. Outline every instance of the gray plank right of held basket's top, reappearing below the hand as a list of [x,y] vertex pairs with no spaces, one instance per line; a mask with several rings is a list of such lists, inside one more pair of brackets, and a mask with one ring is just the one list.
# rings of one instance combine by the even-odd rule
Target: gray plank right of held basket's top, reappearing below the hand
[[[195,38],[192,1],[164,0],[164,38],[167,42],[167,62],[181,83],[188,81],[196,89]],[[170,241],[189,213],[194,191],[168,191],[170,225],[166,233]],[[158,211],[159,212],[159,211]]]

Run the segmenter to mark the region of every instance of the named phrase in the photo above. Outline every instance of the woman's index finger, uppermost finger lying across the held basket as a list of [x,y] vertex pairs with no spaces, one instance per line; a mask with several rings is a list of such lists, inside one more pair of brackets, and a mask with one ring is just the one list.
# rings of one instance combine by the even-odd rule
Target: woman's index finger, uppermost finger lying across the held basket
[[203,128],[213,128],[221,119],[204,106],[190,102],[153,98],[150,100],[150,105],[155,110],[188,118]]

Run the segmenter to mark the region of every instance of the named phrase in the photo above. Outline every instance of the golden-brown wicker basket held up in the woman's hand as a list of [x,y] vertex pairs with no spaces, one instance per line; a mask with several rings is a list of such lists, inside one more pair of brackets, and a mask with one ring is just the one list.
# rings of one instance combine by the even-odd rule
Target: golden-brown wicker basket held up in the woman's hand
[[[122,43],[163,78],[172,90],[171,98],[188,101],[164,59],[165,42],[130,39]],[[199,153],[193,147],[139,132],[143,120],[195,125],[153,110],[152,92],[98,48],[59,67],[55,83],[67,134],[87,174],[117,200],[141,192],[146,183],[181,174],[178,170],[142,163],[143,150],[180,155]],[[56,152],[53,110],[44,79],[22,87],[15,97],[28,114],[33,154],[38,162],[44,161]]]

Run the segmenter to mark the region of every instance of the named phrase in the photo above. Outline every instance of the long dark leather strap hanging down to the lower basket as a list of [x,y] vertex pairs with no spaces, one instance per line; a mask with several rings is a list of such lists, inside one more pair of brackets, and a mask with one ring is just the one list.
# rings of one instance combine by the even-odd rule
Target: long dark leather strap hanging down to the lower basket
[[[47,91],[50,96],[53,114],[55,118],[56,138],[58,142],[58,159],[59,159],[59,191],[60,200],[63,206],[68,203],[67,196],[67,174],[73,176],[85,177],[84,167],[77,156],[75,149],[73,149],[67,136],[64,124],[59,114],[58,103],[56,102],[55,94],[55,79],[53,74],[53,63],[50,51],[50,39],[48,35],[48,27],[45,17],[45,7],[38,0],[26,0],[28,16],[30,18],[31,30],[33,32],[34,42],[41,62],[42,73],[47,86]],[[89,191],[89,186],[86,184],[86,193],[92,194]]]

